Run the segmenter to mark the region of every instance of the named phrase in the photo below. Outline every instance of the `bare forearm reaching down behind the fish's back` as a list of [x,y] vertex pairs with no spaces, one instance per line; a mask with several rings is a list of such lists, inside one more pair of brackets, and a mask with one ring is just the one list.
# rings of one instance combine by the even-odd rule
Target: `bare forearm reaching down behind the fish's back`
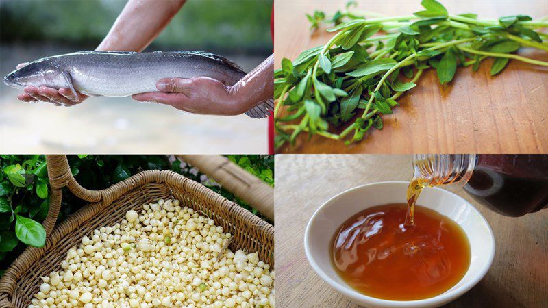
[[160,34],[185,2],[186,0],[127,1],[97,50],[142,51]]

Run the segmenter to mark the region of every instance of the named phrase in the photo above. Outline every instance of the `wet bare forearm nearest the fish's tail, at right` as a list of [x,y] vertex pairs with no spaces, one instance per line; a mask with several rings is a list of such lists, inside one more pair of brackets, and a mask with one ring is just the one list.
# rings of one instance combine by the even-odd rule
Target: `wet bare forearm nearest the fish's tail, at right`
[[258,103],[272,99],[274,95],[274,55],[266,58],[259,66],[230,88],[242,110],[247,111]]

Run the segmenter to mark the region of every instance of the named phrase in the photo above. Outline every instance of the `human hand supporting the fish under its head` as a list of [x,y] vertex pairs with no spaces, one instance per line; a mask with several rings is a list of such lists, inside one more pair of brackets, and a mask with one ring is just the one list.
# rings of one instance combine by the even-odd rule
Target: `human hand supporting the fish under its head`
[[[25,66],[27,63],[21,63],[17,68]],[[25,93],[19,94],[17,99],[20,101],[45,101],[53,103],[56,106],[73,106],[82,103],[88,97],[77,92],[78,97],[74,97],[73,92],[69,88],[55,88],[27,86],[23,89]]]

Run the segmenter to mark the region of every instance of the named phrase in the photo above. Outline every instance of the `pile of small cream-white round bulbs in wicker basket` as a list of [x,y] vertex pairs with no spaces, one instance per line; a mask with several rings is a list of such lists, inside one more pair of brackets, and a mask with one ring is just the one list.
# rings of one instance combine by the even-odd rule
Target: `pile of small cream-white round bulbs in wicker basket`
[[274,270],[230,238],[178,200],[145,204],[84,236],[29,308],[274,307]]

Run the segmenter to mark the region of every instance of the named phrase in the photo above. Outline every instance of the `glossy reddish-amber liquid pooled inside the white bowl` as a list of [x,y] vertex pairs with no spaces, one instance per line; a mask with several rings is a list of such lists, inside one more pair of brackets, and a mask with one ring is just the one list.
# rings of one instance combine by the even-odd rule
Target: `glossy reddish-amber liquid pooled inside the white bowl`
[[456,222],[416,206],[371,207],[349,218],[332,242],[340,277],[358,292],[387,300],[419,300],[456,285],[470,265],[470,244]]

